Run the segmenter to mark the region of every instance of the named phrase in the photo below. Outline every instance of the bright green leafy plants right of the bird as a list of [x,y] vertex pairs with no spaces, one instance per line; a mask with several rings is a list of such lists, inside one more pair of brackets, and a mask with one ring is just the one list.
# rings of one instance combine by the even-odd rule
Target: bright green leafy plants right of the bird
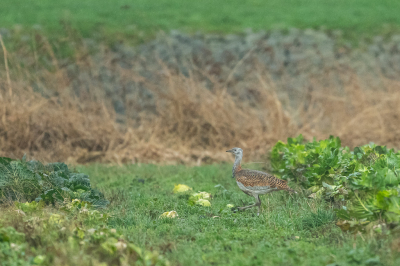
[[306,142],[300,135],[274,146],[272,167],[312,197],[343,202],[340,218],[400,222],[400,153],[393,149],[369,144],[350,151],[338,137]]

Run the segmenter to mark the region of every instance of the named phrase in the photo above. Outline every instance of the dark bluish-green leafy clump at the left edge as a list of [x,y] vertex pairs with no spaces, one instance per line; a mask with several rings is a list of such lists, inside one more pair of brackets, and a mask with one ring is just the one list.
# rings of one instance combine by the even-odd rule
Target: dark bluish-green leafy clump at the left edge
[[80,199],[97,207],[108,201],[90,185],[89,177],[75,173],[64,163],[43,165],[38,161],[0,157],[0,203],[37,201],[46,204]]

